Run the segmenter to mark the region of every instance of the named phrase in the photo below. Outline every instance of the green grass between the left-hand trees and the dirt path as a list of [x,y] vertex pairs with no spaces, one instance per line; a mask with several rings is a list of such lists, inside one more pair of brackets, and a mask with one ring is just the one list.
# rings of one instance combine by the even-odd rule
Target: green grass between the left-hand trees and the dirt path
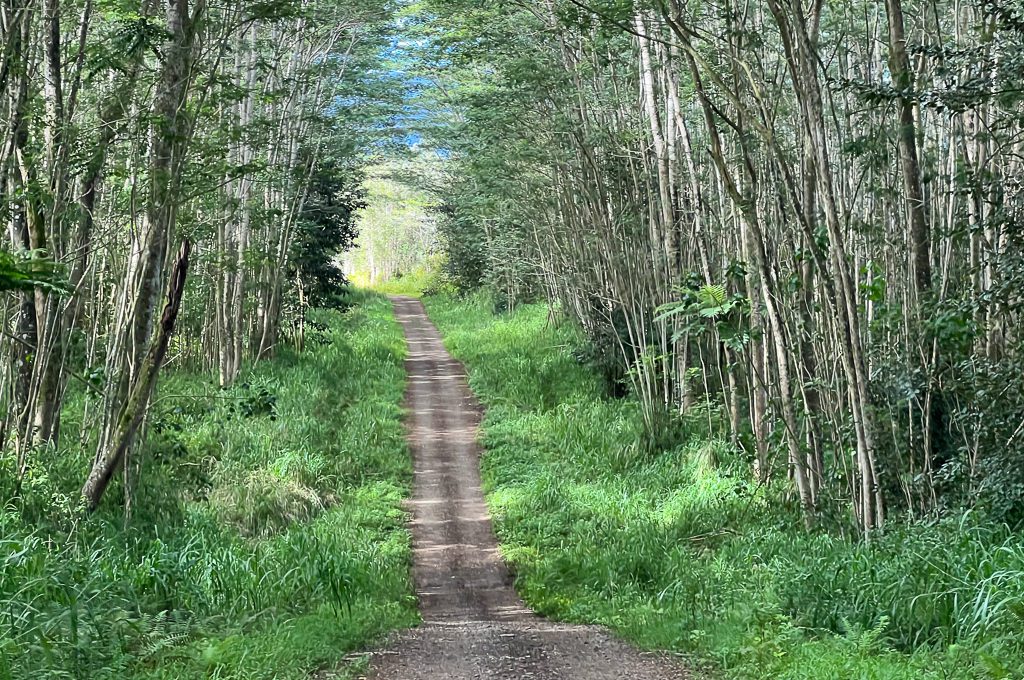
[[357,302],[228,390],[169,373],[127,522],[120,485],[73,502],[89,448],[38,454],[18,498],[2,459],[0,680],[346,677],[416,623],[404,343]]

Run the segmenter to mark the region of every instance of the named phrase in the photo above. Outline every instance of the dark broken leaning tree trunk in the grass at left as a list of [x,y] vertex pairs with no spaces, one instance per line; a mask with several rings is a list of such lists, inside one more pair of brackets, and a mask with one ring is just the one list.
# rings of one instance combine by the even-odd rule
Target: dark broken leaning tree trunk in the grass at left
[[111,443],[96,458],[92,471],[89,472],[89,477],[85,480],[85,485],[82,486],[82,497],[89,510],[95,509],[99,504],[111,477],[114,476],[114,472],[124,460],[125,452],[132,444],[135,433],[145,418],[150,407],[150,397],[157,384],[157,374],[160,373],[160,367],[164,363],[167,347],[171,342],[171,335],[174,333],[174,323],[178,317],[178,309],[181,306],[181,297],[185,289],[185,279],[188,275],[188,256],[190,253],[191,244],[186,239],[182,242],[174,266],[171,268],[171,279],[167,286],[167,302],[164,304],[164,311],[160,316],[157,336],[150,345],[150,351],[146,353],[142,366],[139,367],[128,399],[118,416]]

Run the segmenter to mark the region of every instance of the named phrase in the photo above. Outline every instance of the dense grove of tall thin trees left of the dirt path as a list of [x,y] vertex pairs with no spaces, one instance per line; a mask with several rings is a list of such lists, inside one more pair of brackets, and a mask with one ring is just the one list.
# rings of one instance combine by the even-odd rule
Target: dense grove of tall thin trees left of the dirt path
[[[163,365],[226,386],[301,336],[303,309],[342,281],[331,261],[361,205],[390,12],[0,5],[2,268],[16,291],[0,312],[0,441],[18,477],[80,437],[95,448],[82,473],[94,506],[133,469]],[[88,395],[82,432],[61,431],[71,389]]]

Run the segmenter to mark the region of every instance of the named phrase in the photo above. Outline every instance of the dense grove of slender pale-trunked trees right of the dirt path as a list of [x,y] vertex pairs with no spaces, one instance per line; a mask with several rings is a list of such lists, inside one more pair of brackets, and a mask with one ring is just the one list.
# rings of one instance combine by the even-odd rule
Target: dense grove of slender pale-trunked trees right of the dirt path
[[557,300],[809,525],[1024,519],[1019,3],[417,8],[457,284]]

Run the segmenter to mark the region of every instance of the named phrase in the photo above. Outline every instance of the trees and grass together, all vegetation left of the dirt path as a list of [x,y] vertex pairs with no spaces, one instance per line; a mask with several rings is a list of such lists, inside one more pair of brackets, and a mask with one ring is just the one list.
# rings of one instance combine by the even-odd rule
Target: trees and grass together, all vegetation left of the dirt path
[[403,343],[338,266],[396,8],[0,6],[0,680],[332,677],[416,621]]

